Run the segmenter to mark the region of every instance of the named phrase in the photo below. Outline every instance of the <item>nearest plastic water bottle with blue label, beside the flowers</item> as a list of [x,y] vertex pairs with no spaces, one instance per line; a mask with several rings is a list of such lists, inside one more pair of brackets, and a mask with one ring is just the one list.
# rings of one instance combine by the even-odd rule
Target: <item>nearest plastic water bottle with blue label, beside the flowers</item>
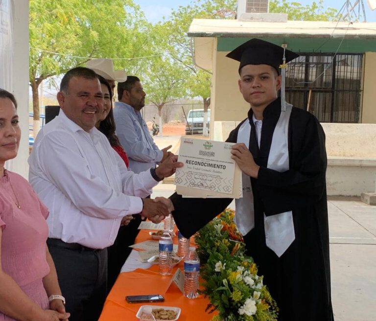
[[200,260],[196,249],[189,248],[184,259],[184,295],[187,298],[198,297],[198,276],[200,275]]

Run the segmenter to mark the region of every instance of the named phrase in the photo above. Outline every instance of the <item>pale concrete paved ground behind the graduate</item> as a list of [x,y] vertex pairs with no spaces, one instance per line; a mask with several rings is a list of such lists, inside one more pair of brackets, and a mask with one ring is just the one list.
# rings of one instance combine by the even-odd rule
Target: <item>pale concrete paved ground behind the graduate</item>
[[[152,198],[168,197],[174,189],[160,183]],[[376,206],[360,198],[330,198],[328,209],[335,321],[376,321]]]

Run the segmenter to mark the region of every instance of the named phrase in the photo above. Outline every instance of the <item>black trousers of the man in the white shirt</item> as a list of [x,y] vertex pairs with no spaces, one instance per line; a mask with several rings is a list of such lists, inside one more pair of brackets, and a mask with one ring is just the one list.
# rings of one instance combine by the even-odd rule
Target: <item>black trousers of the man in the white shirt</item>
[[47,239],[70,321],[97,321],[107,295],[107,249]]

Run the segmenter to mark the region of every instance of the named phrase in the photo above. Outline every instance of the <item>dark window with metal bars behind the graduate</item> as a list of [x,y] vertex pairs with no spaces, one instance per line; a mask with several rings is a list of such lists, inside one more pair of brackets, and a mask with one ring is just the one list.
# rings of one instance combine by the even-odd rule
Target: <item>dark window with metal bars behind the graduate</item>
[[320,122],[357,123],[362,54],[302,53],[286,70],[286,101]]

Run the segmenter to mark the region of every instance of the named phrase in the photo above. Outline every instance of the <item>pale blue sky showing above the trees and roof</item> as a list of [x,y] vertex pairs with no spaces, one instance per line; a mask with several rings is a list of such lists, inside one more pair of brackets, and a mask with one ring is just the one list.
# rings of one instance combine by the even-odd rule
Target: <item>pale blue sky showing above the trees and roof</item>
[[[311,0],[288,0],[289,2],[299,2],[303,5],[311,4],[313,1]],[[162,20],[162,17],[168,17],[171,12],[171,9],[177,9],[180,5],[186,6],[188,5],[191,0],[134,0],[135,3],[141,6],[141,9],[145,13],[147,20],[151,23],[156,23]],[[316,2],[319,2],[316,0]],[[334,8],[339,11],[345,0],[324,0],[323,5],[324,8]],[[350,0],[352,4],[356,2],[356,0]],[[374,2],[376,2],[374,0]],[[376,10],[371,11],[368,7],[367,0],[363,0],[364,8],[366,11],[366,19],[367,22],[376,22]]]

